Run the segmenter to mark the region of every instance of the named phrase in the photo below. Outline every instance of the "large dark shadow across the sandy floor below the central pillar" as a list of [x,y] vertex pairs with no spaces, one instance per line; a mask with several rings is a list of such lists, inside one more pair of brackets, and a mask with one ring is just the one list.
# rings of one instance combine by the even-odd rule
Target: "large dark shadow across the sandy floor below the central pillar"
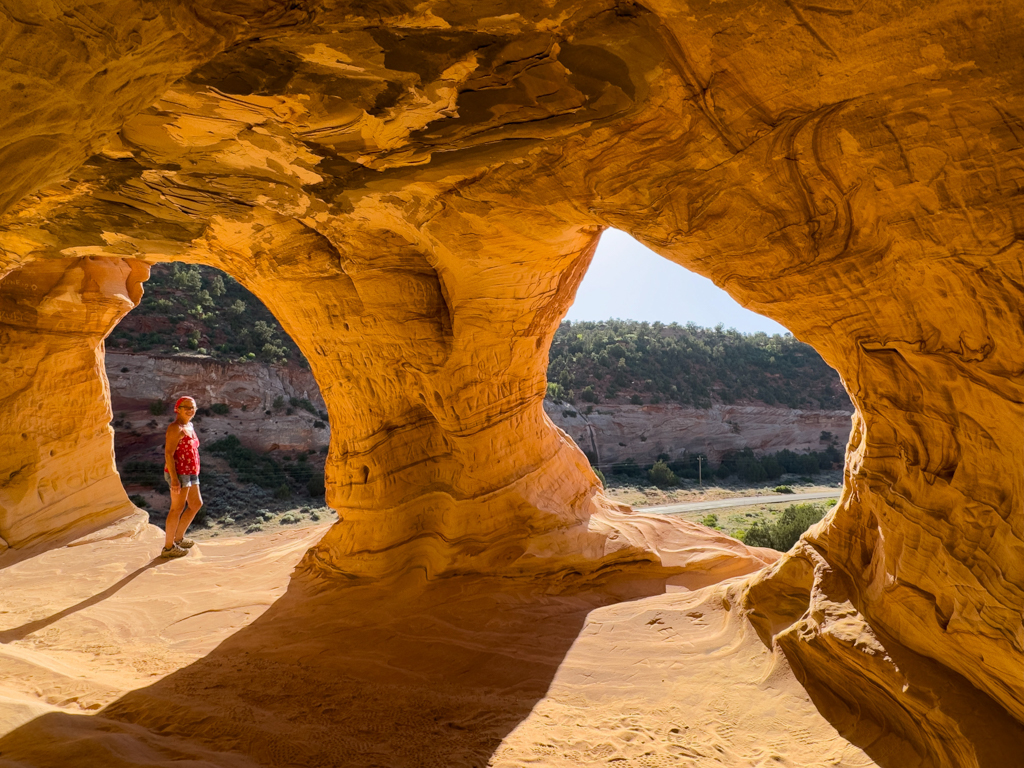
[[195,664],[94,716],[48,714],[0,738],[0,765],[483,766],[545,695],[587,614],[663,585],[612,596],[607,584],[550,594],[481,577],[296,577]]

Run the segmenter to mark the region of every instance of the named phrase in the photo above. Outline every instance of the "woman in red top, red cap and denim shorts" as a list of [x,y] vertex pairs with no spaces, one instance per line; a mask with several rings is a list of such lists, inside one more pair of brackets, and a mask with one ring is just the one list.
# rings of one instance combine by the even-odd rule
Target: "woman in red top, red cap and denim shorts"
[[[167,536],[161,557],[184,557],[196,544],[185,531],[203,506],[199,493],[199,437],[191,425],[196,400],[180,397],[174,403],[175,419],[164,442],[164,479],[171,486],[171,511],[167,513]],[[185,503],[188,510],[185,510]]]

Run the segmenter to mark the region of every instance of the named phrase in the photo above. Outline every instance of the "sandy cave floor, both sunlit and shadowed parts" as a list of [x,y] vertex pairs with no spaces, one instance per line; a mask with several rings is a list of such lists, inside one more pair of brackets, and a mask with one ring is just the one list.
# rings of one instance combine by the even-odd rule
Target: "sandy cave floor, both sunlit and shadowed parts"
[[326,528],[0,558],[0,765],[873,765],[735,583],[293,578]]

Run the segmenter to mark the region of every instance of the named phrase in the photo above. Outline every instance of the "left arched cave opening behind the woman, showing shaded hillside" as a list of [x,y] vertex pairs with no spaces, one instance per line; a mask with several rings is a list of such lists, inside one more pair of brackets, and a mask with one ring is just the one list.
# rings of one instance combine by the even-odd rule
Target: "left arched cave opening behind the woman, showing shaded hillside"
[[129,499],[163,525],[164,430],[196,397],[209,536],[326,521],[330,419],[309,365],[273,314],[229,274],[151,268],[139,305],[106,340],[117,467]]

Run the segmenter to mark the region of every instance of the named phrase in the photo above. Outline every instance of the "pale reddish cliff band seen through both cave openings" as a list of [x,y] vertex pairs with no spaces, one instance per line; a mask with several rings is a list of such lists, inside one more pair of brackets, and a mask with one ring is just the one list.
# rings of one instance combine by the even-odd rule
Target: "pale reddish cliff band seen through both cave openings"
[[[151,402],[171,402],[188,394],[201,408],[214,402],[231,408],[229,416],[202,417],[211,437],[234,434],[259,451],[312,450],[330,439],[329,426],[313,426],[319,421],[316,416],[302,409],[292,409],[292,414],[272,409],[276,398],[287,403],[295,397],[308,400],[317,412],[326,410],[312,374],[295,367],[108,352],[106,376],[115,414],[125,414],[136,433],[152,431],[144,426],[152,420]],[[719,403],[710,409],[600,404],[588,414],[575,406],[545,400],[544,410],[599,467],[627,459],[650,464],[662,454],[676,458],[684,452],[702,453],[715,463],[741,447],[759,453],[816,451],[823,447],[821,432],[845,441],[853,416],[852,410],[803,411],[764,403]],[[157,421],[162,434],[167,419]],[[119,459],[125,450],[152,442],[118,434]]]

